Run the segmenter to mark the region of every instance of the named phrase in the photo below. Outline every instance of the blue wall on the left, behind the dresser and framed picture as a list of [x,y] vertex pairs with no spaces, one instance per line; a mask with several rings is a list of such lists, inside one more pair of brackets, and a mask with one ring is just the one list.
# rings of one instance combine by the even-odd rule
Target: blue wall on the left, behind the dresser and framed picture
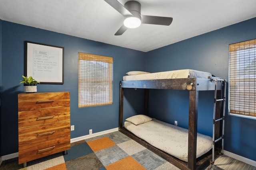
[[[24,75],[24,41],[64,47],[64,84],[38,84],[38,92],[69,91],[71,139],[118,127],[119,81],[130,70],[145,68],[145,53],[132,49],[72,37],[60,33],[2,21],[2,155],[18,152],[19,80]],[[86,31],[86,30],[85,30]],[[113,104],[78,108],[78,52],[113,57]],[[136,62],[134,62],[136,61]]]

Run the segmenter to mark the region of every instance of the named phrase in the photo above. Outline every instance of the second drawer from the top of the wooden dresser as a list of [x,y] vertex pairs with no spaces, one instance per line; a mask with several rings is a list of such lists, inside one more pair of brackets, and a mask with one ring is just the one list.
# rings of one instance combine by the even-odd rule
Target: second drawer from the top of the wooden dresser
[[18,128],[70,121],[70,107],[54,107],[18,112]]

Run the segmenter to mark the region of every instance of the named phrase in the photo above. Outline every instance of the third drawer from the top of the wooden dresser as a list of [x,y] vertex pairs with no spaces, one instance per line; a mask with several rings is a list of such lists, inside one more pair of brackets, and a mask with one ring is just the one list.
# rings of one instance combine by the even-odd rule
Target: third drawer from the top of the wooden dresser
[[70,136],[70,121],[19,129],[19,147]]

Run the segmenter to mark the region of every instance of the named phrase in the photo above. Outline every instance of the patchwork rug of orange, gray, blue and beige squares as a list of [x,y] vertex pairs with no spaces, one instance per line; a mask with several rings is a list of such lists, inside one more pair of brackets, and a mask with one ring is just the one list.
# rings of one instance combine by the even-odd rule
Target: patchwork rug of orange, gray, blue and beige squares
[[68,150],[18,164],[5,160],[0,170],[179,170],[119,131],[76,143]]

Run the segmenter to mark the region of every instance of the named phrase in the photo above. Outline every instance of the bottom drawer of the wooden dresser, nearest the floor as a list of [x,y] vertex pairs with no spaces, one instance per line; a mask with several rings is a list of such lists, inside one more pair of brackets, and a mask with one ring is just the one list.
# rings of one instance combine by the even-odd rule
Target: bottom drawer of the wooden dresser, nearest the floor
[[70,149],[70,137],[19,147],[19,164]]

